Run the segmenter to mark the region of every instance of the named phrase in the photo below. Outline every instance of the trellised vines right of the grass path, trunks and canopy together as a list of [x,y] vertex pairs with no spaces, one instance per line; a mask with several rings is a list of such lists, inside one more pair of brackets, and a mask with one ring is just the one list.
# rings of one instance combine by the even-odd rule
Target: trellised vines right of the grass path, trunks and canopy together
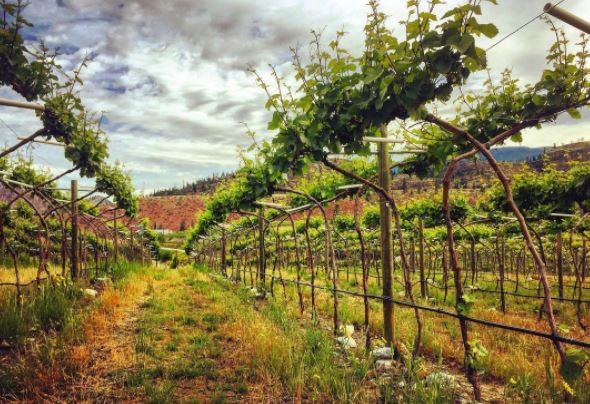
[[[398,354],[400,342],[410,341],[419,357],[433,353],[433,335],[454,334],[459,348],[445,353],[462,352],[476,400],[486,371],[510,376],[494,370],[499,356],[491,354],[534,362],[548,352],[496,336],[549,341],[549,368],[559,370],[563,395],[583,397],[590,167],[510,178],[490,148],[564,113],[580,118],[590,100],[587,38],[572,44],[546,19],[555,42],[539,80],[522,84],[508,70],[488,70],[480,85],[487,54],[478,40],[497,34],[481,22],[480,3],[410,0],[394,30],[370,1],[362,54],[342,47],[343,32],[327,47],[313,33],[309,57],[292,50],[293,77],[271,67],[271,85],[252,70],[268,95],[274,136],[244,150],[242,167],[211,197],[186,251],[262,294],[294,296],[301,315],[321,317],[318,296],[329,296],[335,333],[348,306],[362,302],[367,347],[383,336]],[[445,105],[456,115],[439,113]],[[379,139],[369,139],[390,134],[419,152],[392,162],[380,143],[377,161],[370,143]],[[453,189],[458,166],[472,159],[495,174],[485,194]],[[439,177],[442,190],[408,202],[390,188],[392,170]],[[353,212],[335,213],[344,199]],[[372,320],[375,302],[381,322]],[[397,308],[409,309],[414,324]]]

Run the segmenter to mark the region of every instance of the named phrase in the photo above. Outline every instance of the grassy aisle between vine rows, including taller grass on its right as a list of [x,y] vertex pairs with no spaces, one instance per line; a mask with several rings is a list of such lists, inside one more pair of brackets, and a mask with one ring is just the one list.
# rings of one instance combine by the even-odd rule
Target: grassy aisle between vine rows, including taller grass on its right
[[[257,301],[247,289],[223,282],[194,269],[151,274],[92,344],[77,396],[153,403],[376,402],[379,396],[405,396],[375,383],[370,361],[343,354],[329,330],[311,327],[281,302]],[[437,369],[424,363],[416,371]],[[455,393],[469,396],[464,377],[452,373]],[[406,402],[457,399],[431,387],[423,385],[415,401]],[[485,396],[496,395],[491,387],[484,386]]]

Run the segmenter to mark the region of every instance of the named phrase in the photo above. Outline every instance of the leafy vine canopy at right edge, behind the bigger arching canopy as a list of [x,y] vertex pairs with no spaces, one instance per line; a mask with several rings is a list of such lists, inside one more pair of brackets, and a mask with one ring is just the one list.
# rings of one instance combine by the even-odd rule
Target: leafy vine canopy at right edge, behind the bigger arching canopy
[[[496,83],[490,76],[484,83],[484,91],[461,93],[457,99],[459,114],[452,120],[453,124],[482,143],[515,128],[510,139],[519,142],[522,130],[540,128],[562,112],[579,117],[579,109],[590,100],[588,38],[582,36],[572,49],[563,31],[550,21],[549,25],[556,39],[547,53],[547,68],[539,81],[521,85],[509,70]],[[428,116],[426,119],[432,121]],[[426,148],[427,153],[408,159],[402,170],[419,176],[442,171],[451,158],[473,147],[464,137],[435,125],[416,129],[409,137]]]

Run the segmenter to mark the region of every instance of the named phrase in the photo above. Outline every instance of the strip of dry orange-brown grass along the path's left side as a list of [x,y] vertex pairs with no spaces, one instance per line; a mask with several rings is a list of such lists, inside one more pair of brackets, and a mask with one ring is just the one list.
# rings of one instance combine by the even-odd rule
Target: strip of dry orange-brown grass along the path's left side
[[[22,397],[30,402],[93,401],[109,397],[113,386],[105,383],[112,366],[128,362],[131,336],[125,324],[134,318],[148,275],[131,274],[120,286],[108,287],[78,313],[72,330],[51,333],[29,341],[15,352],[8,366],[20,375]],[[76,331],[76,330],[79,331]],[[131,331],[131,330],[128,330]]]

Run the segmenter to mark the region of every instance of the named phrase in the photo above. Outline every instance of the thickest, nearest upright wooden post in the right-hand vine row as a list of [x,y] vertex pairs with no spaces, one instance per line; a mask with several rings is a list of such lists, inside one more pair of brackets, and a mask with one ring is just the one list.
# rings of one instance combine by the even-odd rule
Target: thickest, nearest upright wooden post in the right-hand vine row
[[[381,136],[387,137],[385,127],[381,127]],[[391,173],[389,172],[389,146],[387,143],[378,144],[379,159],[379,186],[386,192],[391,189]],[[391,209],[387,200],[381,196],[379,198],[379,221],[381,225],[381,268],[383,270],[383,297],[385,299],[393,297],[392,272],[393,272],[393,240],[392,240],[392,217]],[[383,300],[383,331],[385,342],[389,346],[394,346],[395,329],[394,329],[394,310],[391,300]]]

